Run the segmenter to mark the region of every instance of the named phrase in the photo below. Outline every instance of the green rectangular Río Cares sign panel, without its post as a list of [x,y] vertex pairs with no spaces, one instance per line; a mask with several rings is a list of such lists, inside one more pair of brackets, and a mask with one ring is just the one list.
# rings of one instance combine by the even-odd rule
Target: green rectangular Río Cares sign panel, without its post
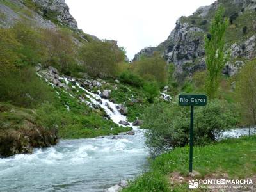
[[206,95],[179,95],[180,106],[206,106]]

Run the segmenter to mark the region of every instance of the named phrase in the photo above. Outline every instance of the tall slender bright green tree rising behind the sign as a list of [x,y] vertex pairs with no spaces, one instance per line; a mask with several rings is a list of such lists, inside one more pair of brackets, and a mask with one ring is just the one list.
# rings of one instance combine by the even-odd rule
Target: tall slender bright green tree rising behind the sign
[[209,34],[205,36],[205,54],[207,65],[206,91],[209,99],[214,99],[220,85],[221,70],[230,58],[230,54],[225,54],[225,31],[228,20],[223,17],[224,8],[218,8],[214,20],[212,21]]

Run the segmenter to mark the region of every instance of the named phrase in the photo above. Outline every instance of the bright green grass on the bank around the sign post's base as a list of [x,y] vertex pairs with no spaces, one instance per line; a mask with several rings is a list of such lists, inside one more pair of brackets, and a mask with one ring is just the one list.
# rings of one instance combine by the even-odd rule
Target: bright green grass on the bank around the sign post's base
[[[193,169],[198,179],[210,174],[228,174],[230,179],[244,179],[256,174],[256,136],[227,139],[220,143],[194,147]],[[170,174],[179,172],[188,176],[189,147],[175,148],[152,161],[150,172],[131,182],[124,192],[136,191],[189,191],[188,183],[173,184]]]

